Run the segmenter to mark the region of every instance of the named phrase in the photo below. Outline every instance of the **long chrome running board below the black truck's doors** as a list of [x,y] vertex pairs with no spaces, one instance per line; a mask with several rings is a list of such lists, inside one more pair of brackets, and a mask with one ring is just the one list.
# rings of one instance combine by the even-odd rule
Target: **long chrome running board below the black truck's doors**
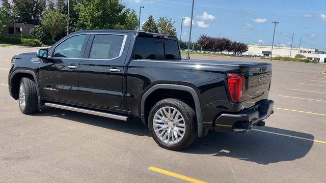
[[70,111],[75,111],[75,112],[82,112],[82,113],[86,113],[86,114],[93,114],[93,115],[97,115],[97,116],[103,116],[103,117],[118,119],[118,120],[126,121],[128,119],[128,116],[110,114],[110,113],[106,113],[106,112],[99,112],[99,111],[94,111],[94,110],[89,110],[89,109],[82,109],[82,108],[71,107],[71,106],[65,106],[65,105],[60,105],[60,104],[45,103],[44,105],[49,106],[49,107],[59,108],[59,109],[65,109],[65,110],[70,110]]

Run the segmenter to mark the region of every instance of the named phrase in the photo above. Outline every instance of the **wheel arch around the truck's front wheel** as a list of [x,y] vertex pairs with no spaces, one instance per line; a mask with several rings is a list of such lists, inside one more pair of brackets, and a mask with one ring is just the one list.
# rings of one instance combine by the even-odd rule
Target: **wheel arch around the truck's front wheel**
[[39,84],[38,84],[38,80],[36,77],[35,72],[31,71],[31,70],[26,70],[26,69],[17,69],[15,70],[9,78],[9,86],[11,88],[11,94],[12,97],[17,100],[18,99],[18,93],[16,94],[16,91],[18,89],[18,85],[20,82],[20,79],[23,77],[32,77],[32,79],[35,82],[36,85],[36,92],[37,92],[37,100],[39,105],[41,104],[41,97],[40,97],[40,88],[39,88]]

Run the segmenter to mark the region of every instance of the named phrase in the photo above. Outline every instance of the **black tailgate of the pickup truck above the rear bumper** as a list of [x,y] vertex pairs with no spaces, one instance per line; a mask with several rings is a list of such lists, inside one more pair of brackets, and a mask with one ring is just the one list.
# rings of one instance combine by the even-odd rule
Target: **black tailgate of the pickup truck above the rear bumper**
[[[259,63],[246,66],[244,72],[245,78],[241,101],[250,102],[248,100],[257,97],[267,99],[271,81],[271,64]],[[252,105],[254,105],[254,103]]]

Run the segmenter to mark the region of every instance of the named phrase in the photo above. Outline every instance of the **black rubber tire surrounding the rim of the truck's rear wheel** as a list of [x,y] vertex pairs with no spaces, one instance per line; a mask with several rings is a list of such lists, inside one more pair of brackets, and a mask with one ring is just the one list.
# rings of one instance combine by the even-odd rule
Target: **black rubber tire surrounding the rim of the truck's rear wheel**
[[[175,144],[168,144],[163,142],[163,140],[160,140],[159,137],[155,134],[153,123],[154,123],[154,116],[155,113],[161,109],[162,107],[173,107],[177,109],[182,117],[184,118],[183,123],[185,125],[185,132],[183,134],[183,138],[175,143]],[[149,112],[148,116],[148,129],[152,136],[152,138],[155,140],[155,142],[163,148],[169,149],[169,150],[181,150],[189,145],[191,145],[194,140],[197,137],[197,120],[196,120],[196,113],[194,109],[192,109],[189,105],[186,103],[177,100],[177,99],[164,99],[159,102],[157,102],[151,111]]]

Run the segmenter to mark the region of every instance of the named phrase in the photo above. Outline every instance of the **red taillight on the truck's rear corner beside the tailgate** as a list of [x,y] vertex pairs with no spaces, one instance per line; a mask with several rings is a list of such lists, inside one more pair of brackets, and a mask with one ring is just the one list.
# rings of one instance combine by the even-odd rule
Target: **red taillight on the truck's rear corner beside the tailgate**
[[232,102],[239,102],[242,98],[243,76],[228,74],[227,83]]

